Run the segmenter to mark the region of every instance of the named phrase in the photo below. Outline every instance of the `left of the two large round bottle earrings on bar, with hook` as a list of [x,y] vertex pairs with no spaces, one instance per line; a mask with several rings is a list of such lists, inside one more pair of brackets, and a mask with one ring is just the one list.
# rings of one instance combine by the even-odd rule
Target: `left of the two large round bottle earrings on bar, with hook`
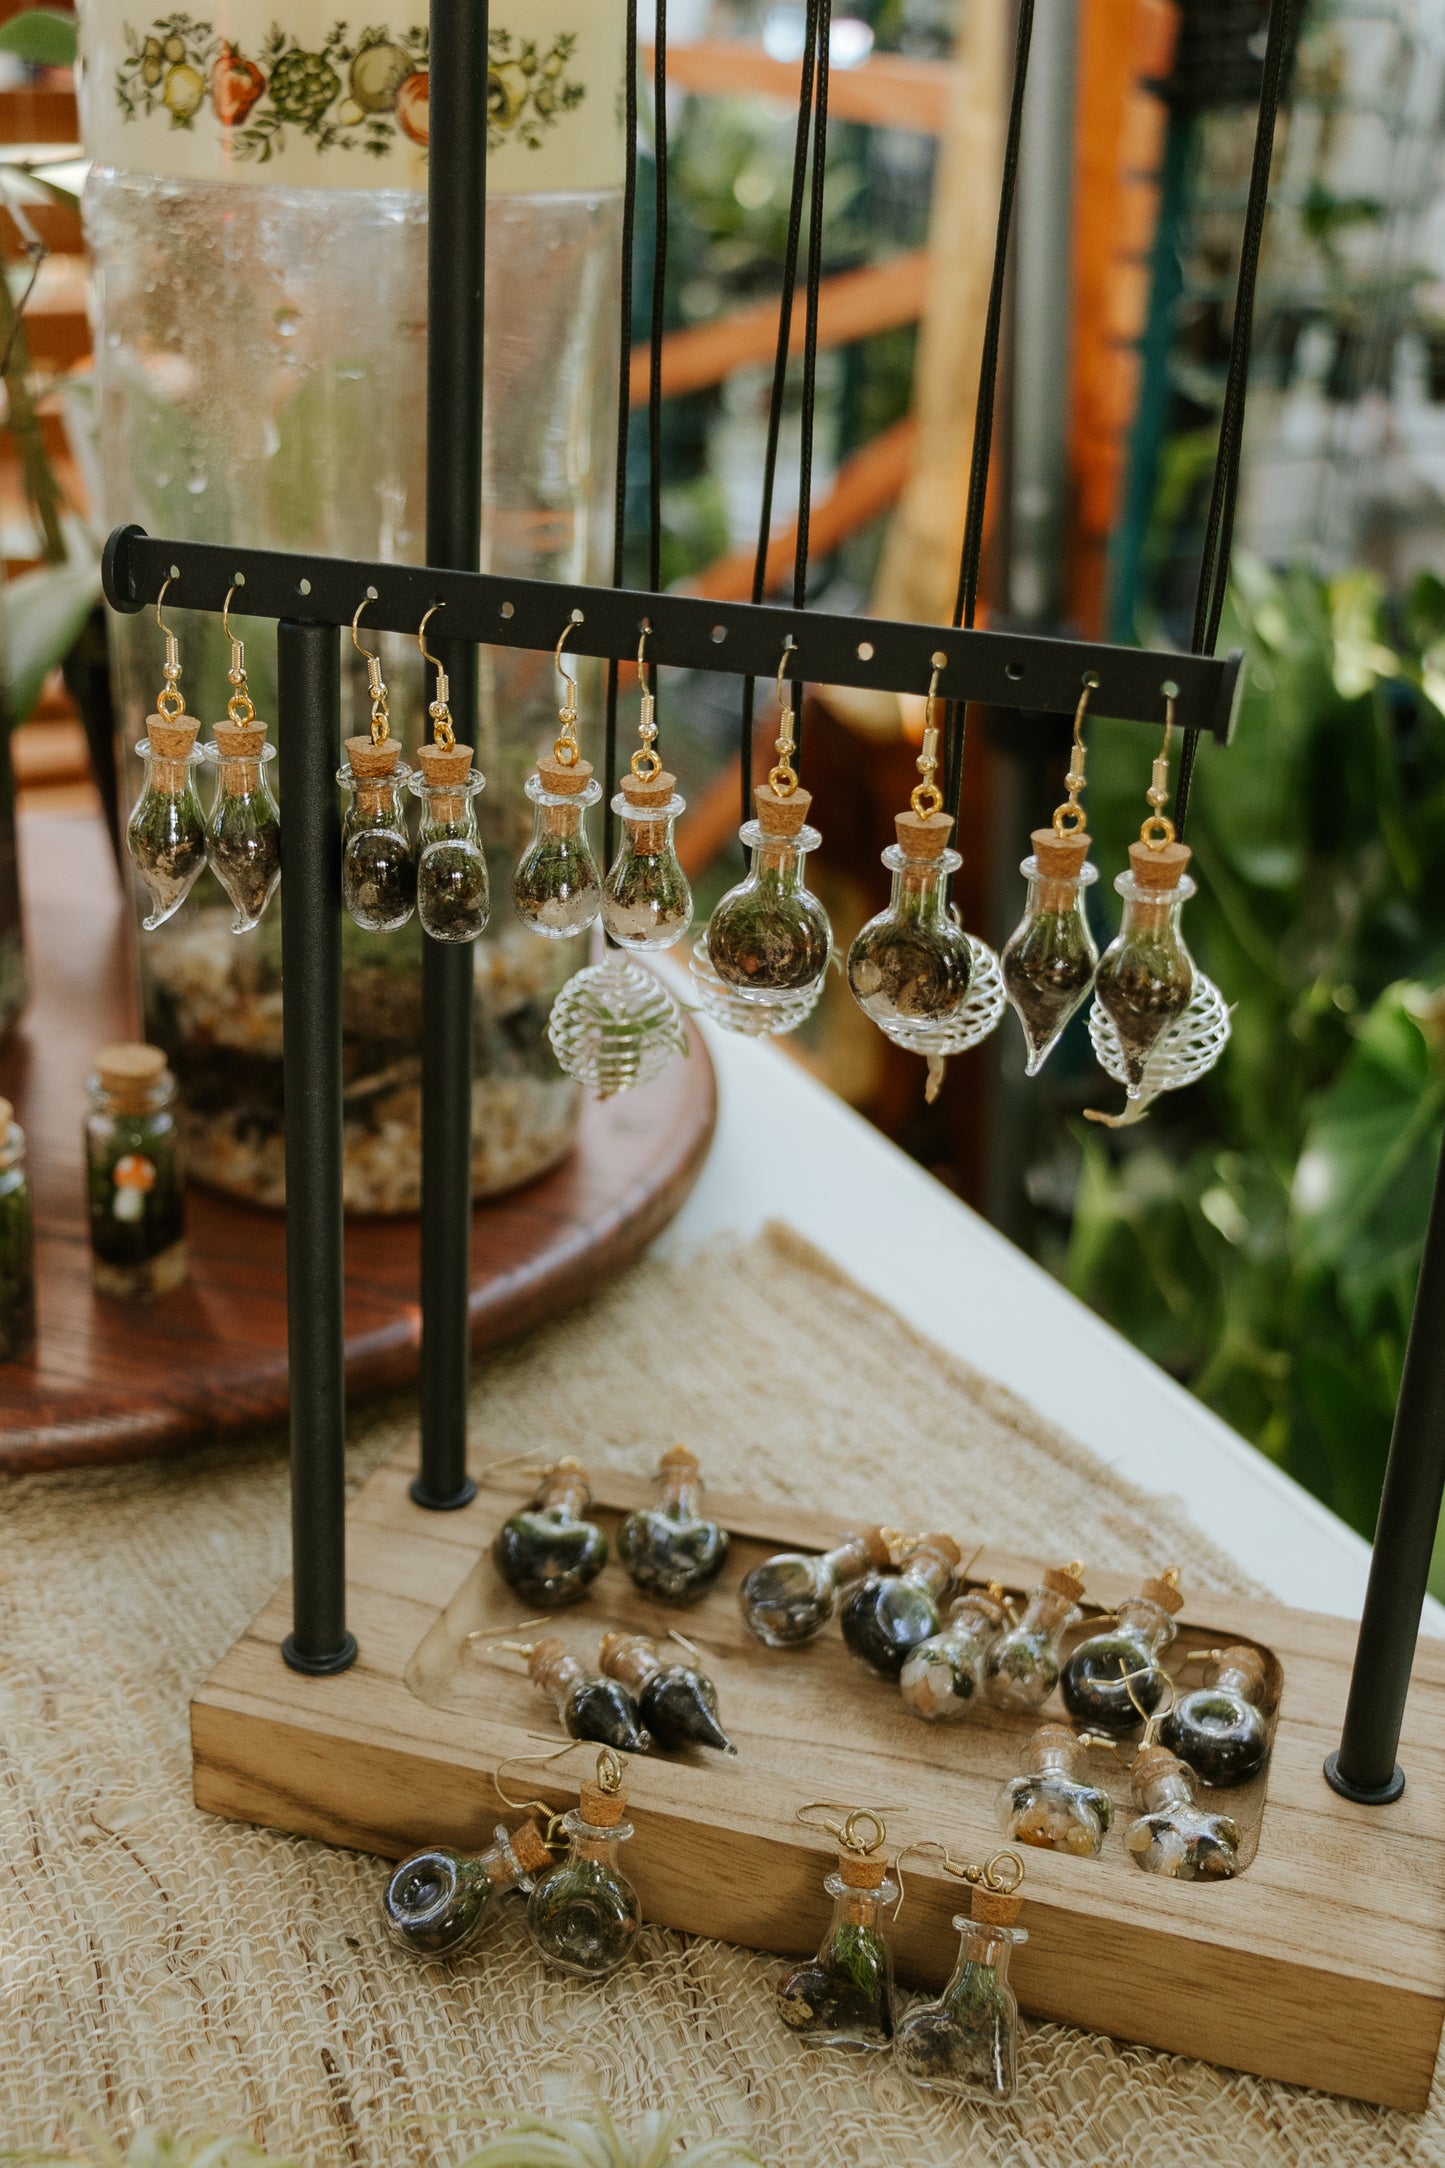
[[832,956],[828,913],[804,878],[804,861],[823,837],[808,826],[812,798],[793,767],[789,655],[778,668],[778,765],[754,791],[758,817],[739,830],[752,865],[713,911],[691,965],[706,1015],[745,1036],[795,1032],[819,1004]]

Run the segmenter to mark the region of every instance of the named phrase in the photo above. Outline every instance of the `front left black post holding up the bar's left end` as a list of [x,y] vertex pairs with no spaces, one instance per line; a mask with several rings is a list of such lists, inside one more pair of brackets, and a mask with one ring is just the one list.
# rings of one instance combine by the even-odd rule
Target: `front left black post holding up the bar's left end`
[[347,1357],[342,1327],[340,646],[277,627],[282,993],[286,1034],[286,1331],[290,1362],[292,1672],[344,1672]]

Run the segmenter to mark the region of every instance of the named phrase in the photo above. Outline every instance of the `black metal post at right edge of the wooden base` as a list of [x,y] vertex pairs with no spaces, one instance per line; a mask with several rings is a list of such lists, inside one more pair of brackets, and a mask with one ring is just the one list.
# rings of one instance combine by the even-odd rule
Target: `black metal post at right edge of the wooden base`
[[1426,1255],[1415,1288],[1395,1433],[1380,1494],[1361,1639],[1339,1750],[1324,1773],[1345,1799],[1389,1806],[1404,1791],[1395,1760],[1445,1498],[1445,1149],[1434,1177]]

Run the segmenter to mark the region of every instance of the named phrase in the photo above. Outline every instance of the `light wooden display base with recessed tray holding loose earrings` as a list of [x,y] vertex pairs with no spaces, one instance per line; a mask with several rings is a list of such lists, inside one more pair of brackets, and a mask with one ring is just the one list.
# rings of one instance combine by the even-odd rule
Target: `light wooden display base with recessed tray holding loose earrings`
[[[487,1483],[464,1513],[412,1505],[399,1455],[357,1494],[347,1520],[351,1626],[362,1654],[340,1678],[299,1678],[279,1659],[290,1593],[279,1589],[193,1704],[195,1802],[327,1843],[399,1858],[425,1843],[481,1847],[500,1815],[492,1773],[537,1752],[552,1706],[509,1659],[464,1639],[518,1626],[522,1604],[492,1567],[490,1539],[520,1492]],[[594,1470],[598,1518],[641,1505],[650,1485]],[[576,1654],[600,1635],[678,1626],[708,1656],[737,1758],[693,1750],[628,1763],[637,1841],[626,1871],[643,1914],[667,1927],[806,1953],[828,1921],[832,1841],[799,1825],[806,1799],[880,1808],[893,1849],[945,1838],[981,1858],[1003,1843],[997,1797],[1020,1767],[1031,1717],[984,1708],[925,1726],[895,1687],[860,1669],[836,1626],[795,1652],[752,1641],[737,1583],[780,1548],[828,1548],[843,1524],[713,1496],[734,1548],[717,1589],[676,1611],[609,1563],[585,1602],[557,1615]],[[1025,1589],[1038,1563],[984,1552],[971,1580]],[[1090,1576],[1098,1606],[1133,1589]],[[1406,1711],[1404,1799],[1352,1806],[1324,1782],[1339,1739],[1354,1626],[1226,1596],[1194,1596],[1181,1648],[1254,1641],[1280,1689],[1265,1776],[1205,1793],[1244,1828],[1244,1873],[1179,1884],[1142,1873],[1122,1849],[1122,1763],[1096,1756],[1120,1815],[1098,1860],[1027,1854],[1029,1943],[1014,1979],[1025,2010],[1200,2055],[1261,2077],[1421,2109],[1445,2018],[1445,1646],[1421,1641]],[[1088,1630],[1088,1624],[1081,1633]],[[1198,1676],[1192,1669],[1189,1676]],[[1057,1702],[1046,1711],[1057,1715]],[[561,1734],[559,1734],[561,1737]],[[574,1804],[594,1750],[533,1773]],[[908,1864],[893,1930],[899,1973],[938,1986],[953,1962],[960,1884],[923,1856]]]

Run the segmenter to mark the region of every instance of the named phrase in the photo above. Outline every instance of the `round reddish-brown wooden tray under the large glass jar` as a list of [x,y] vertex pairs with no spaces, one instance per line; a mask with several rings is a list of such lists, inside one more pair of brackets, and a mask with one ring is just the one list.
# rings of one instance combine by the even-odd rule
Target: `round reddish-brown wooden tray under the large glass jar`
[[[123,902],[97,820],[22,824],[30,1006],[0,1051],[0,1093],[30,1147],[39,1344],[0,1364],[0,1472],[184,1453],[286,1418],[286,1223],[191,1190],[191,1279],[154,1305],[91,1288],[80,1123],[95,1047],[134,1032]],[[667,1225],[706,1156],[713,1064],[691,1058],[641,1093],[587,1101],[576,1151],[472,1214],[472,1344],[492,1346],[591,1294]],[[412,1221],[347,1227],[347,1390],[418,1368]]]

